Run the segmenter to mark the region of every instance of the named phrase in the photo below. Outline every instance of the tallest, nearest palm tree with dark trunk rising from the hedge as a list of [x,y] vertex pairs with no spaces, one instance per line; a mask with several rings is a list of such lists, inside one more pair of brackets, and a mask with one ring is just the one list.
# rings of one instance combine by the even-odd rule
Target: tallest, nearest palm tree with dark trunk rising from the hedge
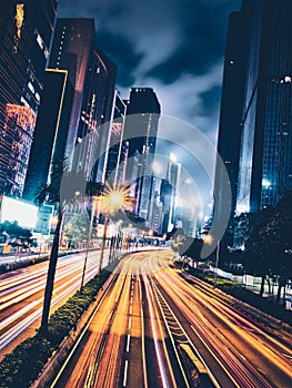
[[85,192],[85,180],[81,174],[68,172],[67,161],[59,160],[52,164],[50,183],[42,185],[36,195],[34,202],[39,206],[48,203],[54,206],[57,212],[57,225],[53,234],[53,243],[44,289],[43,310],[40,330],[48,331],[48,320],[53,292],[54,274],[58,263],[60,229],[66,207],[75,201],[77,195]]

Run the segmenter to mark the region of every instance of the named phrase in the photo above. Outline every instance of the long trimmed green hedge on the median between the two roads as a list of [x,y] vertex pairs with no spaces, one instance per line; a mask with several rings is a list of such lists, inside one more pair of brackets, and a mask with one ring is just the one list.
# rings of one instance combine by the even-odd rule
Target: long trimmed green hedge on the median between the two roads
[[92,278],[68,302],[58,308],[49,319],[48,334],[37,333],[16,349],[6,355],[0,363],[1,388],[29,388],[62,340],[75,328],[82,314],[94,302],[98,290],[113,269],[102,269],[100,277]]

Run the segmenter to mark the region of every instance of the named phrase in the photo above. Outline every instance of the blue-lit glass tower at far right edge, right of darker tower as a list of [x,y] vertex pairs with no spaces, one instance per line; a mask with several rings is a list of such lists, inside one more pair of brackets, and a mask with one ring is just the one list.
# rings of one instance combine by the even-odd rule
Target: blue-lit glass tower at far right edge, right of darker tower
[[243,1],[248,28],[238,213],[292,188],[292,2]]

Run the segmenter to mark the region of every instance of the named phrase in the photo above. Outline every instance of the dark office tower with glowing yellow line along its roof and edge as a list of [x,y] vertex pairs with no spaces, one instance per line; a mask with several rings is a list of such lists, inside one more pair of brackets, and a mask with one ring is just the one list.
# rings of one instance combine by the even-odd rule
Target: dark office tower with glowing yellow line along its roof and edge
[[64,159],[72,101],[68,71],[47,69],[23,190],[27,201],[33,202],[39,187],[47,183],[51,164]]

